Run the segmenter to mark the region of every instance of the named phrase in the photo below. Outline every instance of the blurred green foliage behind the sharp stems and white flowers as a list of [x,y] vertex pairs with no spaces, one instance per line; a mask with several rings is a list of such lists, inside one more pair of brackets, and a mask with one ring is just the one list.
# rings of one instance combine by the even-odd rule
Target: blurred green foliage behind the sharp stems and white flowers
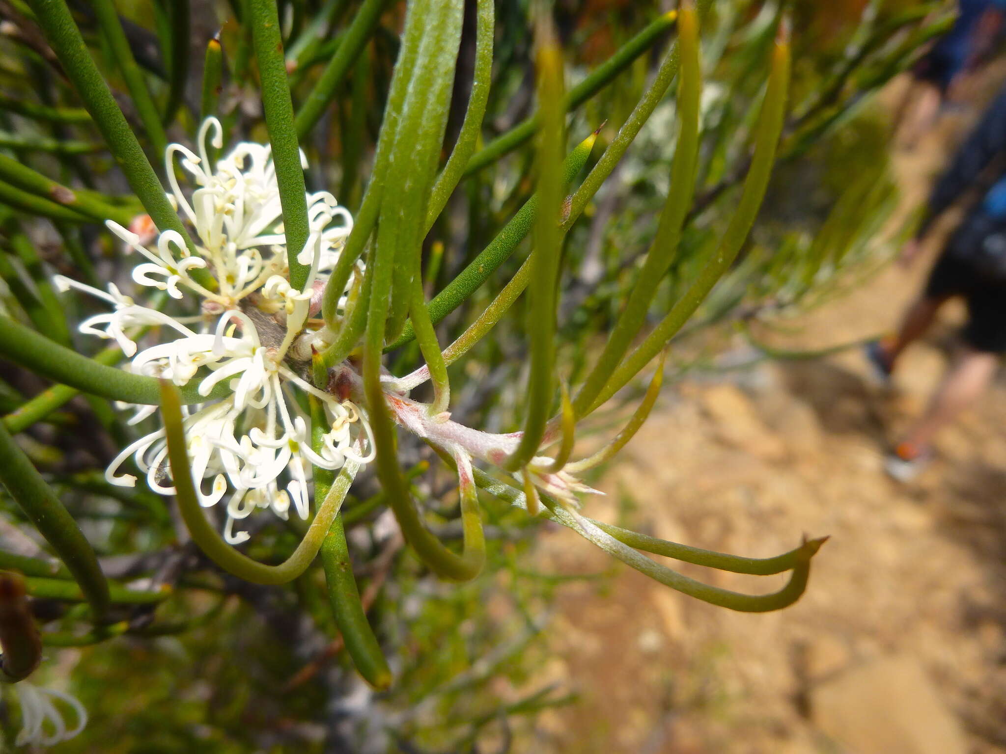
[[[532,113],[530,5],[529,0],[497,4],[483,130],[487,144]],[[126,91],[90,4],[71,6],[107,80],[115,91]],[[295,103],[306,97],[359,6],[356,0],[281,0]],[[217,31],[225,61],[217,115],[235,135],[267,141],[246,27],[234,20],[246,10],[240,0],[197,1],[190,7],[126,0],[117,8],[127,19],[134,54],[155,100],[172,92],[181,98],[177,122],[168,131],[172,141],[192,140],[203,53]],[[901,232],[887,223],[896,199],[886,163],[890,126],[871,95],[947,28],[946,4],[800,0],[788,8],[795,67],[780,160],[740,258],[672,348],[671,362],[679,371],[713,363],[723,339],[738,326],[772,326],[855,286],[883,263]],[[570,84],[669,9],[656,1],[559,0],[554,18]],[[699,187],[681,252],[653,303],[654,321],[713,252],[730,218],[782,11],[775,2],[717,0],[703,25]],[[172,14],[178,13],[188,14],[182,19],[189,29],[186,39],[173,36],[180,21]],[[474,3],[466,13],[474,15]],[[19,0],[3,0],[0,14],[0,150],[83,193],[121,197],[113,203],[126,217],[138,213],[90,118],[33,32],[30,12]],[[402,3],[385,3],[335,107],[302,143],[313,166],[309,189],[332,190],[354,211],[373,155],[402,17]],[[613,84],[573,111],[571,143],[600,128],[597,159],[638,102],[669,38],[662,35]],[[473,55],[474,22],[466,20],[449,143],[464,116]],[[180,90],[172,86],[179,70],[185,82]],[[126,98],[120,102],[135,119]],[[582,376],[585,357],[603,345],[601,334],[614,324],[653,237],[668,190],[674,130],[669,92],[569,234],[558,358],[566,379]],[[145,147],[159,166],[156,150]],[[428,295],[452,279],[526,199],[531,163],[525,145],[464,180],[432,233],[442,245],[427,248]],[[49,323],[56,339],[63,328],[61,338],[75,341],[60,323],[77,321],[87,314],[86,305],[73,299],[55,303],[46,279],[59,271],[119,280],[125,267],[118,244],[88,218],[40,216],[17,193],[3,194],[0,204],[3,312],[36,326]],[[511,259],[493,279],[508,279],[516,267]],[[498,293],[493,279],[442,323],[442,342],[457,337]],[[500,431],[519,426],[522,323],[521,317],[502,322],[453,368],[454,410],[472,423]],[[80,343],[81,352],[89,348]],[[403,347],[392,371],[400,374],[418,359],[414,344]],[[44,388],[9,364],[0,365],[0,375],[4,413]],[[611,420],[609,412],[595,423],[610,426]],[[48,646],[49,662],[38,673],[40,683],[71,691],[90,711],[88,728],[60,751],[505,751],[515,737],[533,736],[541,710],[574,703],[567,690],[533,685],[533,671],[548,656],[551,595],[571,577],[527,570],[525,556],[537,527],[519,511],[485,500],[487,567],[477,580],[457,586],[430,576],[401,548],[372,480],[354,488],[344,510],[357,577],[397,678],[390,691],[375,694],[340,651],[320,567],[289,589],[223,577],[190,546],[177,544],[174,513],[163,499],[104,482],[101,469],[130,431],[107,401],[75,399],[19,435],[111,575],[146,578],[154,565],[182,574],[171,598],[156,608],[158,632],[166,635],[148,635],[152,606],[136,606],[124,615],[127,635],[79,636],[71,630],[76,608],[52,599],[34,601],[36,615],[55,636],[50,643],[88,644]],[[427,459],[420,446],[407,443],[402,455],[413,464]],[[417,497],[433,511],[444,511],[442,533],[460,537],[459,522],[447,513],[455,502],[453,485],[446,473],[413,477]],[[37,554],[39,543],[30,527],[22,526],[18,509],[0,497],[0,510],[2,549]],[[258,533],[250,554],[289,552],[297,539],[277,523]],[[143,555],[138,559],[137,553]],[[171,556],[167,564],[165,553]],[[577,578],[605,588],[605,573]],[[0,715],[9,742],[17,730],[16,705],[4,704]]]

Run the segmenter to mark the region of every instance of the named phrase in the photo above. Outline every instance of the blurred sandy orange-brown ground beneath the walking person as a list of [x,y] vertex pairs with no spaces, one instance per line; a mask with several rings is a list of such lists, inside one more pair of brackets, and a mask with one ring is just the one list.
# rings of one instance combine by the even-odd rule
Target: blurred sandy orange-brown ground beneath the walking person
[[[895,156],[905,208],[975,113],[945,119]],[[885,269],[780,345],[820,348],[892,327],[927,267]],[[961,314],[948,312],[906,354],[891,392],[872,384],[855,351],[668,390],[590,515],[617,520],[619,501],[630,501],[642,531],[759,557],[802,532],[831,541],[801,601],[776,613],[713,608],[628,568],[602,591],[565,588],[549,628],[555,657],[537,681],[555,680],[579,701],[546,713],[523,750],[1006,752],[1006,380],[940,437],[940,457],[919,480],[899,485],[881,466],[939,381]],[[543,537],[539,559],[559,573],[609,564],[567,531]],[[781,583],[681,570],[741,590]],[[878,687],[857,687],[856,670],[891,657],[911,666],[903,683],[882,671],[892,691],[863,704]],[[857,702],[859,712],[843,715]],[[881,744],[898,716],[919,740],[895,731],[895,743]]]

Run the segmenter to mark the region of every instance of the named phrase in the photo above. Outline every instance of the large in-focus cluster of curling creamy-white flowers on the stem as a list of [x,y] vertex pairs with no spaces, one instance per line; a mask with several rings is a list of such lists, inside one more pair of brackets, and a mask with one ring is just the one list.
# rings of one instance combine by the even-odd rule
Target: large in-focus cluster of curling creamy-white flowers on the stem
[[[219,149],[220,124],[209,118],[199,129],[199,155],[178,144],[166,154],[168,196],[195,229],[195,253],[178,232],[158,234],[147,217],[130,229],[106,223],[146,259],[134,267],[133,279],[188,303],[189,314],[171,317],[138,306],[114,284],[106,293],[67,277],[57,276],[55,282],[60,290],[79,289],[112,305],[111,313],[85,320],[79,330],[114,339],[132,358],[127,369],[176,385],[199,380],[197,390],[207,401],[186,407],[184,420],[192,475],[203,506],[213,506],[229,493],[224,537],[237,544],[248,535],[235,533],[234,521],[256,509],[271,508],[286,519],[293,506],[306,519],[311,464],[335,469],[346,458],[366,463],[373,458],[373,442],[368,423],[352,402],[317,389],[303,376],[312,348],[322,350],[330,336],[320,321],[310,318],[320,307],[325,277],[352,229],[352,217],[328,192],[308,194],[310,236],[297,258],[310,266],[310,274],[303,292],[292,288],[270,148],[241,143],[211,165],[206,146],[211,131],[210,144]],[[176,153],[197,187],[190,200],[175,176]],[[196,269],[206,270],[215,285],[203,285],[207,281],[198,274],[193,278]],[[159,328],[174,340],[138,352],[129,335],[137,327]],[[211,394],[220,383],[230,392],[214,400]],[[324,402],[329,426],[320,452],[311,448],[309,422],[294,394],[298,390]],[[138,406],[130,423],[156,410]],[[174,494],[163,428],[119,453],[106,472],[110,483],[136,484],[135,477],[120,472],[131,455],[152,490]],[[204,480],[210,481],[208,491]]]

